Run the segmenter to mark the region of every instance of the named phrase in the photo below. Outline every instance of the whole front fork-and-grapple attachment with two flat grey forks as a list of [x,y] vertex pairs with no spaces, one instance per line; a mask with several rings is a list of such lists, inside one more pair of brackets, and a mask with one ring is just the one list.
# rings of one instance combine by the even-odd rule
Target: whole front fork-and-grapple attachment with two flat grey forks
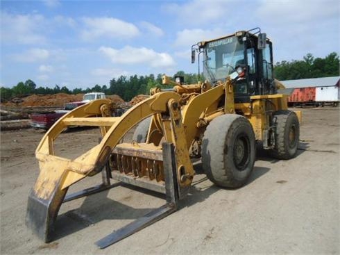
[[[39,161],[40,174],[28,197],[26,225],[45,242],[53,240],[54,223],[61,204],[114,187],[110,184],[112,174],[114,174],[114,179],[119,181],[164,192],[167,204],[99,240],[96,245],[100,248],[108,247],[108,245],[130,236],[132,233],[176,211],[178,199],[185,195],[194,176],[187,151],[179,99],[180,96],[174,92],[160,92],[130,108],[121,117],[108,117],[112,105],[110,105],[109,100],[100,99],[80,106],[60,118],[46,132],[35,151]],[[162,147],[151,146],[151,148],[157,150],[153,151],[147,144],[118,145],[121,138],[133,126],[146,117],[155,114],[162,118],[165,140]],[[78,158],[69,159],[54,155],[54,140],[67,126],[74,125],[99,126],[102,135],[101,142]],[[114,155],[112,154],[114,151],[116,158],[124,158],[124,162],[121,163],[122,166],[125,165],[122,173],[112,171],[110,168],[109,159]],[[125,151],[130,156],[119,156],[117,151]],[[153,152],[159,155],[157,169],[158,172],[162,171],[161,180],[158,178],[157,181],[145,181],[140,178],[139,183],[138,176],[132,174],[133,172],[144,174],[149,176],[149,179],[153,179],[151,177],[152,173],[155,175],[154,167],[147,164],[144,168],[146,167],[148,171],[141,169],[144,161],[153,163],[151,164],[153,166],[156,162],[146,159],[148,154],[145,154],[145,151],[148,151],[149,155]],[[130,164],[133,162],[136,164]],[[127,166],[135,167],[138,170],[133,172],[130,170],[129,172]],[[86,176],[93,176],[99,172],[103,176],[102,184],[66,196],[69,186]]]

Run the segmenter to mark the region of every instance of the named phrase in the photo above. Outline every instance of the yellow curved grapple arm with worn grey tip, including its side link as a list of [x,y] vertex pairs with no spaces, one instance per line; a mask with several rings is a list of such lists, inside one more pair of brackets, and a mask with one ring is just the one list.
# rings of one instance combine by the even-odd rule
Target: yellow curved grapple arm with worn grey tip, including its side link
[[[110,101],[101,99],[80,106],[60,118],[46,132],[35,151],[40,174],[28,197],[26,214],[28,227],[31,227],[42,240],[49,242],[52,239],[54,222],[60,205],[69,186],[86,176],[101,172],[119,140],[135,124],[151,115],[170,116],[168,120],[164,120],[164,129],[168,129],[168,132],[164,131],[164,133],[168,133],[165,135],[166,142],[175,145],[174,160],[176,162],[168,163],[168,165],[175,165],[178,186],[189,186],[194,170],[185,143],[179,100],[180,95],[175,92],[161,92],[130,108],[121,117],[102,117],[103,110],[101,109],[104,106],[108,107]],[[65,127],[73,125],[101,127],[103,136],[101,142],[78,158],[61,158],[54,155],[54,140]],[[164,169],[164,171],[170,170]]]

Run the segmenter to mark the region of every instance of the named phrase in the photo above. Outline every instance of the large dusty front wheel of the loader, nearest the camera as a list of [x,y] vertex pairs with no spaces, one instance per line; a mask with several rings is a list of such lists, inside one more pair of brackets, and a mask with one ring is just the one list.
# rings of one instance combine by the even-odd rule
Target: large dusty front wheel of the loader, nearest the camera
[[255,135],[250,122],[241,115],[216,117],[205,130],[202,165],[207,177],[218,186],[243,186],[255,163]]

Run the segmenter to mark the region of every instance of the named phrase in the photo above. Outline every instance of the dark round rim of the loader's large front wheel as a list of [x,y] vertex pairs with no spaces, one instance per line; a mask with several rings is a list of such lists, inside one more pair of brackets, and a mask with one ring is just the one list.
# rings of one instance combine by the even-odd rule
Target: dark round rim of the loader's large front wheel
[[239,171],[246,169],[249,162],[250,145],[246,135],[239,135],[234,145],[234,164]]

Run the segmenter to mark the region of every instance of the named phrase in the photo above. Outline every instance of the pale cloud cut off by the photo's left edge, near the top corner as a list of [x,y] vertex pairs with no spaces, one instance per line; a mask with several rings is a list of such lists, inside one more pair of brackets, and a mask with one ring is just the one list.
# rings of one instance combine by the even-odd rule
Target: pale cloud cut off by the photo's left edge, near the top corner
[[43,44],[42,26],[46,22],[42,15],[16,15],[1,11],[1,41],[17,44]]

